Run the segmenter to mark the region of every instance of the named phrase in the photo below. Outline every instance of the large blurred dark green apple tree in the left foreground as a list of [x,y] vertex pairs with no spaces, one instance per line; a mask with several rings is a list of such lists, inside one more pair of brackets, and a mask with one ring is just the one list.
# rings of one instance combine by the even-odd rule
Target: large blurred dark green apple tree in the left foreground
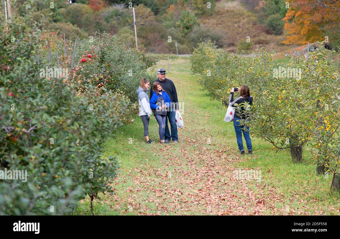
[[46,60],[38,66],[40,30],[29,16],[9,24],[14,42],[1,33],[0,166],[26,171],[27,182],[0,180],[0,215],[65,215],[86,194],[112,192],[117,162],[102,158],[101,145],[121,125],[129,101],[104,88],[75,92],[61,78],[39,77]]

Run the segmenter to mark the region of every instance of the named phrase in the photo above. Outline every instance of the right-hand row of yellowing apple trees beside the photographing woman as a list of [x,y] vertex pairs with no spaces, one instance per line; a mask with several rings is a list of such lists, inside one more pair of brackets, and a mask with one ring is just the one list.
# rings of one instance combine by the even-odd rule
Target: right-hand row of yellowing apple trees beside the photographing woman
[[[263,55],[262,55],[263,54]],[[302,148],[311,143],[319,165],[338,172],[339,63],[335,52],[319,47],[305,58],[292,58],[277,75],[272,54],[257,57],[232,55],[201,43],[191,57],[192,71],[211,98],[227,102],[228,89],[248,85],[255,99],[251,107],[251,133],[278,149],[289,148],[295,161],[302,160]],[[297,72],[296,72],[297,71]],[[276,72],[276,74],[275,74]],[[325,108],[326,107],[326,108]],[[321,141],[320,141],[321,140]]]

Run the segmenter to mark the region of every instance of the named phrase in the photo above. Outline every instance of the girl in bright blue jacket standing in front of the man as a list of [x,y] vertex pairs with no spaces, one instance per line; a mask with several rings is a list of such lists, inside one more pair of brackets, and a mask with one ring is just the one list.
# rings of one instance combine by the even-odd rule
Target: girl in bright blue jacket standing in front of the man
[[153,115],[155,116],[159,125],[158,133],[161,143],[170,143],[164,140],[165,133],[165,120],[167,112],[169,110],[171,100],[169,95],[163,91],[162,85],[155,82],[152,86],[153,94],[150,99],[150,107],[153,109]]

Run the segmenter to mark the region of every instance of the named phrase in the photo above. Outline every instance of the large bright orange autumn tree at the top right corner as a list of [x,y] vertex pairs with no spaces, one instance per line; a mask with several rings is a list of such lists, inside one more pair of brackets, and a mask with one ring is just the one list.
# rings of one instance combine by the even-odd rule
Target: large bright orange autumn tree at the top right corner
[[326,33],[339,31],[339,0],[287,0],[285,44],[306,44],[325,40]]

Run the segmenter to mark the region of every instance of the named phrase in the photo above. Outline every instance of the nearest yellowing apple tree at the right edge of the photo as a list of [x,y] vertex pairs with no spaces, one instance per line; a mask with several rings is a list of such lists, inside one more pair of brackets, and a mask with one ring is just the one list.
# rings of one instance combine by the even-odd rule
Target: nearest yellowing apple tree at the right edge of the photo
[[[298,118],[297,123],[306,125],[311,133],[310,142],[315,162],[323,166],[325,172],[335,176],[339,173],[340,154],[339,63],[334,61],[335,51],[328,51],[320,47],[319,43],[318,46],[316,52],[310,53],[310,64],[295,63],[304,72],[300,87],[304,98],[302,107],[308,112],[304,117]],[[334,177],[332,185],[333,181]]]

